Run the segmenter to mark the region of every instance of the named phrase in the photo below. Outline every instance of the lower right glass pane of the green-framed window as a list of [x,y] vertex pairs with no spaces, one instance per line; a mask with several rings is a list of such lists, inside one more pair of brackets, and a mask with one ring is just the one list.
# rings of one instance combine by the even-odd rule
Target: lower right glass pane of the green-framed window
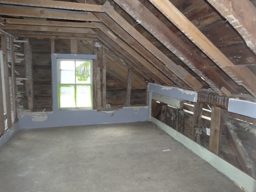
[[91,86],[76,86],[76,107],[92,108]]

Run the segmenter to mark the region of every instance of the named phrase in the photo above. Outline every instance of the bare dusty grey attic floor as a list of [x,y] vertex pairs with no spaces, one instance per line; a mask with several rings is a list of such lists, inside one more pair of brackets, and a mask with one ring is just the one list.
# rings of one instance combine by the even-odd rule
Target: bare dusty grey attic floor
[[20,130],[0,148],[0,192],[104,191],[242,190],[149,122]]

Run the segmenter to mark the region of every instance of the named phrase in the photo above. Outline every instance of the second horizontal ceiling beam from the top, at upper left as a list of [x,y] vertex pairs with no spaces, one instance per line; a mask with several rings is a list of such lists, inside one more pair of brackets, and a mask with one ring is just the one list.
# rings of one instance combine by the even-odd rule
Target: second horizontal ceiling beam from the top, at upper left
[[8,16],[21,16],[32,18],[52,18],[77,21],[100,22],[94,15],[85,12],[70,10],[56,10],[50,8],[32,8],[25,6],[0,6],[0,13]]

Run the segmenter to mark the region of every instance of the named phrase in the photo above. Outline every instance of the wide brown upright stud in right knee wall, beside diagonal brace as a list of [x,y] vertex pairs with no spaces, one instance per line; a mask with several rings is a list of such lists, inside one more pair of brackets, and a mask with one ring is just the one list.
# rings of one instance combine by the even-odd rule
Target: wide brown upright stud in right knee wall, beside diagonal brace
[[216,155],[219,154],[219,142],[220,142],[220,118],[221,118],[221,108],[212,106],[211,115],[211,130],[210,130],[210,143],[209,150]]

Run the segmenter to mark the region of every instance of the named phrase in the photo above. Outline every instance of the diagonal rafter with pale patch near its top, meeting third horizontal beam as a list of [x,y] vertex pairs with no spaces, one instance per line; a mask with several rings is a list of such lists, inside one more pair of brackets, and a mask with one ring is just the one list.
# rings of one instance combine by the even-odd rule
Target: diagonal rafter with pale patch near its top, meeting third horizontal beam
[[[148,62],[146,59],[144,59],[138,52],[136,52],[134,49],[132,49],[128,44],[123,42],[118,36],[114,35],[106,26],[98,25],[98,28],[104,32],[110,39],[112,39],[114,42],[116,42],[118,45],[120,45],[130,56],[135,58],[138,62],[140,62],[145,68],[152,71],[158,78],[160,78],[160,82],[163,82],[161,84],[166,84],[168,86],[174,86],[174,83],[170,79],[168,79],[164,74],[162,74],[157,68],[152,66],[150,62]],[[96,29],[93,29],[96,30]]]

